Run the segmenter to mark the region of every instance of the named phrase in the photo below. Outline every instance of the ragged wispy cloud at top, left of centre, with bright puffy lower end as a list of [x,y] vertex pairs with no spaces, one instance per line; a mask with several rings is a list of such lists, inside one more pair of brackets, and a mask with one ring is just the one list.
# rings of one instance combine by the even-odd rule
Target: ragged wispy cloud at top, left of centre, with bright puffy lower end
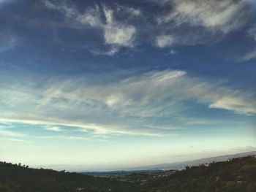
[[[103,32],[105,45],[110,45],[110,50],[90,50],[94,54],[115,55],[121,47],[133,47],[136,34],[136,27],[129,24],[129,19],[138,17],[140,10],[132,7],[124,7],[116,5],[112,9],[104,4],[96,5],[95,7],[87,7],[81,13],[75,5],[69,4],[53,4],[50,1],[44,1],[45,6],[49,9],[55,9],[64,13],[69,26],[74,26],[72,23],[78,23],[80,26],[89,26],[91,28]],[[126,14],[125,20],[116,20],[116,14]],[[77,26],[75,26],[77,27]]]

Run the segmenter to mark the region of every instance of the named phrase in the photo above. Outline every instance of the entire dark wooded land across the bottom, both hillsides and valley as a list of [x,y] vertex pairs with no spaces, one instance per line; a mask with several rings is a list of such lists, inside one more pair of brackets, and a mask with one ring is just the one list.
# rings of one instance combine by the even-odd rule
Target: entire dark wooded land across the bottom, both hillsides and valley
[[0,163],[1,192],[65,191],[256,191],[256,158],[187,167],[181,171],[132,173],[93,177],[50,169],[30,169],[21,164]]

